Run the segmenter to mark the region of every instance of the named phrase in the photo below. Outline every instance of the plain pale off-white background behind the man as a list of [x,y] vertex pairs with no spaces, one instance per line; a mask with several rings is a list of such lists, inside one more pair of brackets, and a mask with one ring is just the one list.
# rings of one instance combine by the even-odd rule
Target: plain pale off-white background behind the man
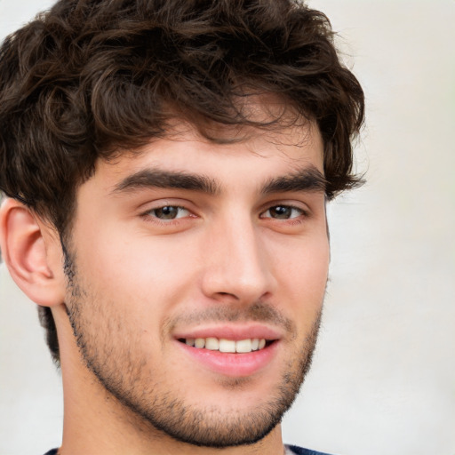
[[[52,2],[0,0],[0,36]],[[330,206],[331,284],[287,442],[455,455],[455,1],[313,0],[366,92],[368,184]],[[0,272],[0,454],[60,443],[35,305]]]

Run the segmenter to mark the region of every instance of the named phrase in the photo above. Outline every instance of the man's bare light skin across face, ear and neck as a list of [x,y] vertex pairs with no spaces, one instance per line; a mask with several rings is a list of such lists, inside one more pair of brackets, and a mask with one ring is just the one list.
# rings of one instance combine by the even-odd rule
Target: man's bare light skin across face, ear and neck
[[[57,324],[61,454],[209,454],[220,449],[208,445],[229,438],[251,444],[231,444],[224,454],[283,453],[277,423],[309,365],[330,254],[323,189],[264,188],[296,170],[323,174],[323,143],[311,124],[244,132],[240,142],[216,144],[187,125],[140,153],[100,161],[77,191],[67,275],[52,227],[18,203],[4,206],[4,232],[19,231],[21,218],[39,232],[21,253],[8,247],[12,235],[3,235],[3,247],[12,276],[52,307]],[[191,173],[216,191],[128,186],[131,176],[156,170]],[[14,271],[14,257],[35,258],[47,292],[36,274]],[[274,351],[247,374],[214,371],[177,339],[201,328],[253,326],[275,333]],[[193,443],[177,440],[163,419],[165,431],[157,429],[154,410],[158,417],[177,411],[174,429],[188,427]]]

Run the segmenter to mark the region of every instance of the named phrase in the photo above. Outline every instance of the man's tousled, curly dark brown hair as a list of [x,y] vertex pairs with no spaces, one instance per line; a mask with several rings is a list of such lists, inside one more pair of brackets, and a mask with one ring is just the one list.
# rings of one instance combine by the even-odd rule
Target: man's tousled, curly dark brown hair
[[[165,137],[176,117],[271,128],[239,97],[274,94],[317,124],[326,196],[353,188],[363,90],[327,17],[298,0],[60,0],[0,49],[0,190],[70,229],[98,159]],[[58,363],[55,324],[40,308]]]

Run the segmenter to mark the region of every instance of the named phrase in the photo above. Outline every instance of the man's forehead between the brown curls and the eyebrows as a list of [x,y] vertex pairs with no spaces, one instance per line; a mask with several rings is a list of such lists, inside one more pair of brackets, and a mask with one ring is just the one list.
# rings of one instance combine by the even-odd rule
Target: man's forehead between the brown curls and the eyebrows
[[100,160],[95,178],[116,185],[132,172],[164,168],[204,173],[214,180],[233,180],[234,174],[255,180],[267,173],[304,167],[323,174],[323,140],[316,124],[300,121],[269,128],[208,125],[202,134],[194,125],[176,120],[164,138],[127,150],[116,159]]

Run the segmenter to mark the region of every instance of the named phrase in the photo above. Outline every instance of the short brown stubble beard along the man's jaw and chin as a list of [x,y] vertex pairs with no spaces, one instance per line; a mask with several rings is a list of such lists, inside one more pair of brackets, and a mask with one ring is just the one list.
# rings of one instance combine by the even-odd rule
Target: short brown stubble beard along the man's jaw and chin
[[[216,403],[205,408],[186,403],[178,389],[155,382],[146,358],[137,356],[141,346],[138,334],[132,329],[125,331],[121,317],[108,313],[107,302],[103,305],[82,287],[68,253],[65,274],[68,318],[86,367],[126,408],[125,415],[138,418],[145,428],[151,426],[176,441],[196,446],[224,448],[257,443],[280,423],[298,395],[315,350],[321,312],[306,339],[288,357],[291,360],[274,393],[247,411],[227,412]],[[104,325],[97,327],[93,321]],[[228,379],[225,387],[235,393],[235,388],[241,390],[247,380]]]

